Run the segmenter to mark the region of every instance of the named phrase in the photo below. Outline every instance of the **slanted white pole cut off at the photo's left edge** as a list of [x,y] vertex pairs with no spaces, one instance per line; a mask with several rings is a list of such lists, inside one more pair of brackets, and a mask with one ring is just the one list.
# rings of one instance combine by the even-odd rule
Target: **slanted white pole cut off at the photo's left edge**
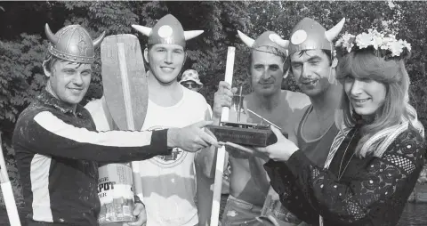
[[9,223],[11,224],[11,226],[20,226],[20,215],[18,214],[18,208],[16,207],[15,197],[13,196],[13,192],[12,192],[12,184],[9,181],[9,175],[7,174],[6,164],[4,162],[1,137],[0,137],[0,184],[2,187],[4,204],[6,205],[7,216],[9,217]]

